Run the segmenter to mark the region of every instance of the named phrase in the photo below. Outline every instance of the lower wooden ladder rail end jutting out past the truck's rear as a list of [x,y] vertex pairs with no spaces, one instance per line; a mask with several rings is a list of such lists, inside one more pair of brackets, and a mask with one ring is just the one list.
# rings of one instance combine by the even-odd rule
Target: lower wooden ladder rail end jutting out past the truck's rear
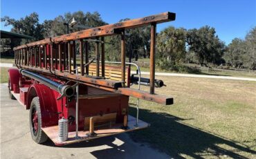
[[118,92],[123,95],[129,95],[131,97],[138,97],[143,100],[147,100],[150,102],[156,102],[163,105],[174,104],[173,97],[166,97],[164,95],[152,95],[145,91],[141,91],[134,88],[118,88]]

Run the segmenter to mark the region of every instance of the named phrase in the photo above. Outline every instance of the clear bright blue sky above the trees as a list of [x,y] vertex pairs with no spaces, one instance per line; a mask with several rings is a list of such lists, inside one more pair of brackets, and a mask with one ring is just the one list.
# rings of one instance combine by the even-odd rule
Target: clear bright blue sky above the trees
[[[190,29],[208,25],[216,29],[217,35],[226,44],[235,37],[244,38],[250,28],[256,26],[256,0],[1,0],[1,17],[8,15],[15,19],[37,12],[42,22],[77,10],[98,11],[109,24],[124,18],[175,12],[176,21],[159,24],[158,32],[167,26]],[[1,30],[10,30],[10,27],[4,27],[1,22]]]

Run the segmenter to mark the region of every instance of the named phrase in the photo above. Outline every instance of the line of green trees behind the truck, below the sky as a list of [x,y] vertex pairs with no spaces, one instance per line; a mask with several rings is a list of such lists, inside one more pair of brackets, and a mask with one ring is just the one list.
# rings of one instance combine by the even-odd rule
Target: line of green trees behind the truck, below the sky
[[[12,19],[3,17],[5,26],[12,26],[11,31],[35,37],[35,39],[12,41],[11,48],[30,41],[37,41],[47,37],[55,37],[67,33],[67,23],[72,17],[80,26],[86,28],[103,26],[107,23],[103,21],[98,12],[66,12],[54,19],[47,19],[42,24],[39,23],[39,15],[36,12],[21,18]],[[121,19],[120,21],[126,21]],[[84,30],[85,28],[69,26],[69,32]],[[138,59],[148,58],[150,51],[150,27],[127,29],[126,55],[127,57]],[[120,36],[105,37],[108,44],[105,46],[107,60],[116,61],[120,59]],[[1,39],[1,44],[10,43],[6,39]],[[109,44],[111,43],[111,44]],[[235,68],[256,69],[256,27],[252,28],[245,39],[233,39],[225,46],[219,39],[213,27],[203,26],[199,29],[174,28],[170,26],[159,32],[156,36],[156,52],[158,65],[163,68],[172,68],[183,62],[196,62],[201,65],[227,63]],[[89,43],[89,53],[94,55],[93,43]],[[77,51],[78,53],[78,51]]]

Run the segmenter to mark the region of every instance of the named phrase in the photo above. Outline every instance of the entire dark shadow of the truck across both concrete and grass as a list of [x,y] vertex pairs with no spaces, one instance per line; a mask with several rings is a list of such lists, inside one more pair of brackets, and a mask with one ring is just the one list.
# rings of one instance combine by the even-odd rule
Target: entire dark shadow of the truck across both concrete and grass
[[[129,107],[129,114],[136,116],[136,109]],[[140,131],[129,132],[131,138],[138,144],[140,142],[148,143],[151,147],[167,153],[172,158],[184,158],[181,155],[190,158],[247,158],[241,155],[241,152],[256,155],[256,151],[244,144],[181,123],[183,120],[193,119],[182,119],[167,113],[154,113],[147,109],[140,109],[140,119],[149,122],[151,126]],[[123,144],[114,144],[116,138]],[[44,145],[55,147],[50,140]],[[108,147],[96,148],[90,152],[91,155],[95,158],[141,158],[142,156],[158,158],[157,154],[152,156],[152,153],[145,152],[144,144],[134,147],[130,138],[124,134],[68,144],[63,148],[100,147],[102,145]]]

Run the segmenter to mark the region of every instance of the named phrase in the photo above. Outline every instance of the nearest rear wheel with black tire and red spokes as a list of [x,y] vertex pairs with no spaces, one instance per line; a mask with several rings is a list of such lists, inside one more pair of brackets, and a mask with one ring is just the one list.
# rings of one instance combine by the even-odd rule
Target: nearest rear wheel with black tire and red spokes
[[[37,122],[33,120],[35,117],[35,113],[37,113],[36,115]],[[48,139],[48,136],[42,130],[42,116],[41,116],[39,97],[34,97],[30,104],[29,122],[30,122],[30,134],[33,140],[37,142],[37,144],[42,144],[46,142],[46,140]],[[37,125],[37,129],[35,129],[36,125]]]

